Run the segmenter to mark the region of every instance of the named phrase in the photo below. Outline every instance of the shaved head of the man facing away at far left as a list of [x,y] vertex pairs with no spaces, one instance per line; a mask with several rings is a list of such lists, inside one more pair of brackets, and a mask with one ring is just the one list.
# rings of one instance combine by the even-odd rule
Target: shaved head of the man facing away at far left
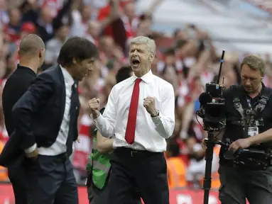
[[22,38],[19,45],[19,55],[23,56],[38,56],[39,52],[45,50],[45,44],[43,40],[35,34],[29,34]]

